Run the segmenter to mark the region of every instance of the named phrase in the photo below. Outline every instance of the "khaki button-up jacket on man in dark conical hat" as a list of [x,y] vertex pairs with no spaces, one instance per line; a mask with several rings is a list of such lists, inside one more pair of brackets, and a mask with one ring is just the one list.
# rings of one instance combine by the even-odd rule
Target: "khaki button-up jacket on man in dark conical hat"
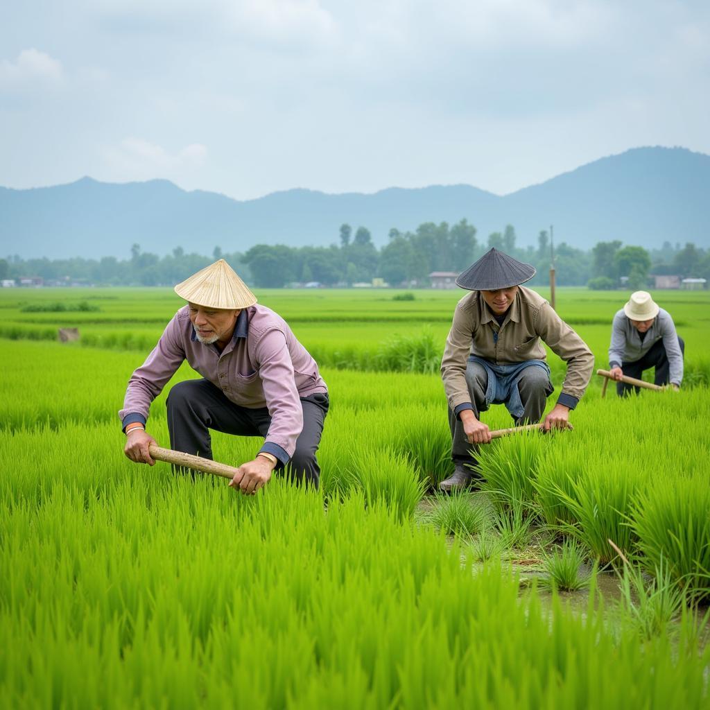
[[457,406],[471,401],[466,386],[469,354],[506,365],[525,360],[545,360],[547,352],[541,339],[567,363],[560,397],[567,406],[569,398],[573,398],[574,408],[589,384],[594,355],[584,340],[552,310],[552,306],[535,291],[519,286],[506,320],[498,327],[498,322],[478,291],[465,295],[454,311],[442,359],[442,379],[449,407],[455,410]]

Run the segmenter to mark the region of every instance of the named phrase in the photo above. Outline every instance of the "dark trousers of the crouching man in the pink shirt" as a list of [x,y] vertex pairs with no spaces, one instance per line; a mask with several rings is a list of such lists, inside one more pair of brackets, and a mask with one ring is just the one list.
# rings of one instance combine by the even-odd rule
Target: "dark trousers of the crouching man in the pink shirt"
[[[186,380],[170,389],[168,400],[170,447],[175,451],[212,459],[209,430],[243,437],[266,437],[271,415],[266,407],[240,407],[226,398],[209,380]],[[301,399],[303,429],[296,439],[296,449],[286,466],[287,474],[297,481],[318,486],[320,466],[316,458],[328,413],[328,395],[317,393]],[[276,466],[281,469],[279,463]]]

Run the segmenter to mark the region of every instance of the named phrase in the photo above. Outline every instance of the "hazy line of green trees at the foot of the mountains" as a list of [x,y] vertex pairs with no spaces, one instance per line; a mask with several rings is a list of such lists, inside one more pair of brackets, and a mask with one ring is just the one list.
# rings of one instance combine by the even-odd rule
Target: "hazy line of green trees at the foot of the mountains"
[[[476,228],[466,219],[451,226],[425,222],[414,231],[391,229],[380,249],[366,227],[353,231],[349,224],[342,224],[337,241],[330,246],[256,244],[244,253],[223,253],[216,246],[209,257],[186,253],[181,247],[158,256],[133,244],[130,258],[124,260],[114,256],[52,260],[11,256],[0,259],[0,279],[40,277],[55,285],[173,285],[215,259],[225,258],[247,283],[261,288],[352,286],[370,284],[375,278],[395,287],[417,288],[430,285],[433,271],[463,271],[493,246],[537,268],[531,285],[549,283],[552,254],[547,231],[540,231],[536,246],[518,246],[510,224],[479,241]],[[648,250],[623,246],[619,240],[600,241],[584,251],[563,241],[555,244],[554,252],[559,285],[644,288],[655,274],[710,280],[710,250],[692,242],[680,246],[666,241],[661,249]]]

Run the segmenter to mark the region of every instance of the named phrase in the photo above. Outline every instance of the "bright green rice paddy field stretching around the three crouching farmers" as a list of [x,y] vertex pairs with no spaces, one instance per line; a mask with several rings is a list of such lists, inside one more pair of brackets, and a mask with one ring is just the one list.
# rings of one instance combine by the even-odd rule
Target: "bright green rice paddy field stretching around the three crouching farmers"
[[[331,410],[320,489],[244,497],[123,455],[116,413],[171,290],[0,290],[0,706],[710,705],[710,294],[653,294],[686,342],[682,391],[601,398],[595,376],[574,431],[499,439],[480,489],[444,498],[462,292],[412,293],[257,293]],[[627,298],[558,290],[598,368]],[[259,445],[214,435],[231,465]]]

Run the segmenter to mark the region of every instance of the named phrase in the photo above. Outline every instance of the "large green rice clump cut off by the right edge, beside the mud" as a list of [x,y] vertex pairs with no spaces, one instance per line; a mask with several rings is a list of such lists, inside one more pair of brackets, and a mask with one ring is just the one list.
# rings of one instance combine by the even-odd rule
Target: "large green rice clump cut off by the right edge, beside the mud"
[[646,569],[665,569],[695,601],[710,599],[709,510],[707,474],[667,475],[639,494],[630,515]]

